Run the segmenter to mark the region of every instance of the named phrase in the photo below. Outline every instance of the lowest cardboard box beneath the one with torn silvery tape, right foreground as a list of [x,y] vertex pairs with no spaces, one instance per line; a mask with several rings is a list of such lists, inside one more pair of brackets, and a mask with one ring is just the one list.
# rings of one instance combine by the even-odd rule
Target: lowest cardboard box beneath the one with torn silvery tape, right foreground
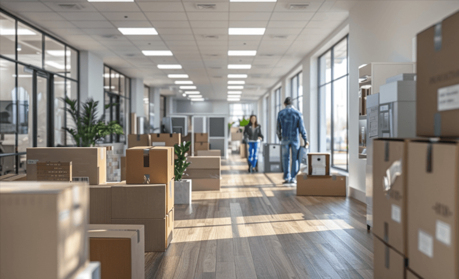
[[374,237],[374,279],[404,279],[405,258]]

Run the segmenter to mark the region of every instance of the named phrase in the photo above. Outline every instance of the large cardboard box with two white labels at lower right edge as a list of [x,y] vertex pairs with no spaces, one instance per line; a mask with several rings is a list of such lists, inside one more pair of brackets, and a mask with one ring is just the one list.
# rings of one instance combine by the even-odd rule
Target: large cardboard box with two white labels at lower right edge
[[459,278],[459,142],[408,143],[408,259],[423,279]]

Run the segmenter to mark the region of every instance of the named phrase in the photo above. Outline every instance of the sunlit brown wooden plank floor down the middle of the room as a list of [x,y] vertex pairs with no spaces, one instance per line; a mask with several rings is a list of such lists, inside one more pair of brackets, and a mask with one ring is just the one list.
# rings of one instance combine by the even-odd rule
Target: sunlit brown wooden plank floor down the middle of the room
[[146,279],[373,278],[366,205],[350,198],[297,197],[280,173],[222,161],[222,186],[175,205],[173,241],[145,253]]

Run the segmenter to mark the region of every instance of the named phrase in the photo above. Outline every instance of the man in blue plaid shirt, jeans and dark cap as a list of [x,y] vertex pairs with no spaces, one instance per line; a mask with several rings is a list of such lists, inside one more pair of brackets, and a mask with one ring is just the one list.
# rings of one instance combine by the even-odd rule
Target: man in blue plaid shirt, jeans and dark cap
[[[296,183],[296,174],[300,167],[298,160],[300,138],[305,140],[305,147],[309,147],[303,114],[292,105],[292,98],[285,99],[285,109],[277,115],[277,136],[282,146],[282,165],[284,167],[284,183]],[[292,167],[290,172],[290,148],[292,150]]]

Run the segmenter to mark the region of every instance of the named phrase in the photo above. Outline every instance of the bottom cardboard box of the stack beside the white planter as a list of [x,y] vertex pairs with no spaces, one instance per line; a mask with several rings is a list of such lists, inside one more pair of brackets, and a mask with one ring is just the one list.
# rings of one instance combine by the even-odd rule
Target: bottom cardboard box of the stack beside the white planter
[[173,239],[174,209],[161,219],[112,219],[112,224],[145,226],[145,252],[164,252]]

